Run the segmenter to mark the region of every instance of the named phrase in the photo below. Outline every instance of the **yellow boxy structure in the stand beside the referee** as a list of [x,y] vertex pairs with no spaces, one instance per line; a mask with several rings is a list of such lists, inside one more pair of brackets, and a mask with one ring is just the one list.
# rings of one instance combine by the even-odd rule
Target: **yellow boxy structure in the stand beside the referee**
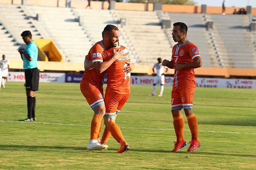
[[38,45],[38,57],[41,61],[62,61],[62,56],[52,40],[34,39],[34,41]]

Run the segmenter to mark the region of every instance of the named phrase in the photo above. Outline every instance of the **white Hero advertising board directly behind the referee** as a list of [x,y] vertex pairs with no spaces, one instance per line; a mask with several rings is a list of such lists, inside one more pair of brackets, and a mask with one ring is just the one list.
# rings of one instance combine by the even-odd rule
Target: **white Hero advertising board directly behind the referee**
[[[24,72],[9,72],[8,81],[25,82]],[[65,82],[65,73],[44,73],[39,74],[39,82]]]

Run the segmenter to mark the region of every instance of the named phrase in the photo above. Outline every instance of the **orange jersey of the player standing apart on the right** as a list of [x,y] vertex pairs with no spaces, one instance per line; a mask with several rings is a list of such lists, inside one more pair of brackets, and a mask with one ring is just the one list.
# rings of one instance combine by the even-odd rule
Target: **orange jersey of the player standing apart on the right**
[[[193,62],[193,59],[198,56],[200,56],[200,54],[197,46],[189,41],[181,45],[176,44],[172,48],[173,65]],[[195,73],[193,68],[183,68],[179,71],[175,70],[173,86],[183,85],[195,87]]]

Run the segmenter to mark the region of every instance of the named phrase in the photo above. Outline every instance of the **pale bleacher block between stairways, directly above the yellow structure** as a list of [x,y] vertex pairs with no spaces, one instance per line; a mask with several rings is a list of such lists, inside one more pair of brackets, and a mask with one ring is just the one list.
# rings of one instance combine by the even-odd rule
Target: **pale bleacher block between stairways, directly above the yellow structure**
[[48,31],[50,37],[58,46],[64,61],[83,62],[93,42],[83,28],[79,26],[78,18],[72,8],[55,8],[27,6],[32,16],[39,14],[41,26]]

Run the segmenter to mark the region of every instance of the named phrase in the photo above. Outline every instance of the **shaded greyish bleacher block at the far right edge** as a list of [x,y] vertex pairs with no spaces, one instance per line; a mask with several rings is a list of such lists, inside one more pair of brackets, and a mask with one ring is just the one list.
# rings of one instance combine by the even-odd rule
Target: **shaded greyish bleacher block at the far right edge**
[[221,62],[228,68],[256,68],[253,33],[248,15],[210,15],[213,36]]

